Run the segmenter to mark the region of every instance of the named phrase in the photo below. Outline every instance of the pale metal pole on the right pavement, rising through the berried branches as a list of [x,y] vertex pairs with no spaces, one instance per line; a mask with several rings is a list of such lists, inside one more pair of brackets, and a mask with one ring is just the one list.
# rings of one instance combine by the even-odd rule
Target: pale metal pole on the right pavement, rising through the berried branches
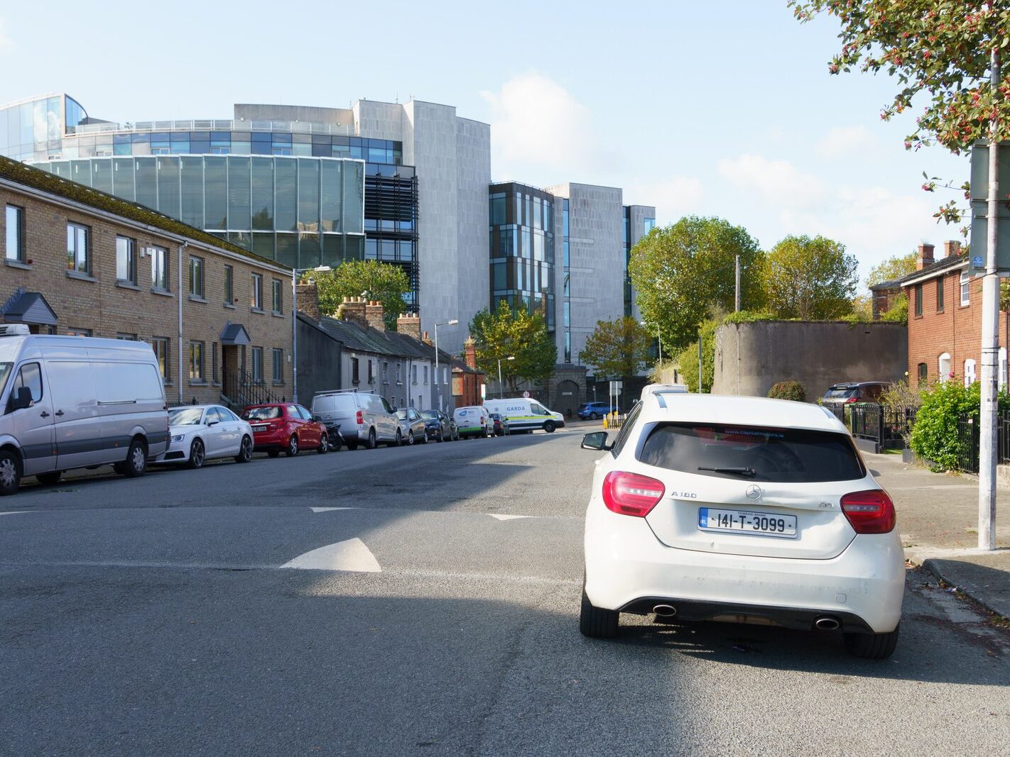
[[[1000,87],[1000,53],[993,41],[990,87],[994,96]],[[999,238],[999,142],[997,119],[989,133],[989,211],[986,275],[982,280],[982,408],[979,428],[979,549],[996,549],[996,413],[997,363],[1000,351],[1000,279],[996,242]]]

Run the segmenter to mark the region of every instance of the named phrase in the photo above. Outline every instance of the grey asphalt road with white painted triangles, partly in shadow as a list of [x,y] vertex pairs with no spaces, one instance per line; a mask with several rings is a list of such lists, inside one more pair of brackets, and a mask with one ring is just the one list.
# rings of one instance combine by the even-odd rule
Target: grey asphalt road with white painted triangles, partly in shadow
[[0,754],[1008,753],[1010,632],[918,571],[883,662],[637,616],[582,638],[580,433],[27,485]]

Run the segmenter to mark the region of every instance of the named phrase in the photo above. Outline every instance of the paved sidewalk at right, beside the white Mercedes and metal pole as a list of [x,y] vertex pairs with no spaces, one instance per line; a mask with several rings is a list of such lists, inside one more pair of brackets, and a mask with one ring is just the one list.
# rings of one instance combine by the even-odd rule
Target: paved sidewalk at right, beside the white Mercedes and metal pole
[[978,549],[979,481],[933,473],[899,455],[864,453],[898,512],[905,556],[1010,618],[1010,489],[997,493],[995,552]]

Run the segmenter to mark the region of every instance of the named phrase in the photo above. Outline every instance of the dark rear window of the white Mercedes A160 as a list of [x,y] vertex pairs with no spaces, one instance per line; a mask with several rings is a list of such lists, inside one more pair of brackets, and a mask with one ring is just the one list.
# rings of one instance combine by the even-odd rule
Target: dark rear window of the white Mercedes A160
[[638,459],[741,481],[813,483],[866,475],[847,435],[789,428],[662,424],[649,432]]

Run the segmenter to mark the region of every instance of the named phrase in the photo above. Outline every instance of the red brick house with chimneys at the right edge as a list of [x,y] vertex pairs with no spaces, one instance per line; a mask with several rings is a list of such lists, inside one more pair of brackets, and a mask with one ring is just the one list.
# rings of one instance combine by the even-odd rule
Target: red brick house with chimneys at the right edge
[[[908,297],[908,373],[912,387],[936,381],[966,385],[982,372],[982,280],[968,274],[958,242],[919,245],[916,271],[899,280]],[[1007,314],[1000,313],[1000,387],[1007,386]]]

